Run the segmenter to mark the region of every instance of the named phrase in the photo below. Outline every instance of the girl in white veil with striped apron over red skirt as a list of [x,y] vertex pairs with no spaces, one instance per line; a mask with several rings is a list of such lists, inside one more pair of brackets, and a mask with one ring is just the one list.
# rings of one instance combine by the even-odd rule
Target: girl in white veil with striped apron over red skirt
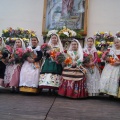
[[73,39],[67,52],[72,63],[62,72],[61,85],[58,94],[70,98],[87,97],[85,69],[81,66],[83,50],[78,40]]

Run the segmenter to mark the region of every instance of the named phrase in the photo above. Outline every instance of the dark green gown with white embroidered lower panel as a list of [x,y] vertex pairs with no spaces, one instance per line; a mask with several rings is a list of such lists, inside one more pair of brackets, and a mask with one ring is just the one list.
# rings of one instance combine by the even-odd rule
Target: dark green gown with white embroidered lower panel
[[[52,47],[52,50],[60,51],[58,46]],[[40,73],[39,88],[58,89],[62,70],[62,65],[54,62],[47,54]]]

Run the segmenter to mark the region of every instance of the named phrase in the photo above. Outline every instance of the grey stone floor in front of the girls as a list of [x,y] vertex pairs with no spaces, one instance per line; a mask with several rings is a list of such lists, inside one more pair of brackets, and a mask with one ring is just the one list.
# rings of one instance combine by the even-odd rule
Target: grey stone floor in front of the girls
[[120,100],[74,100],[46,91],[35,95],[0,89],[0,120],[120,120]]

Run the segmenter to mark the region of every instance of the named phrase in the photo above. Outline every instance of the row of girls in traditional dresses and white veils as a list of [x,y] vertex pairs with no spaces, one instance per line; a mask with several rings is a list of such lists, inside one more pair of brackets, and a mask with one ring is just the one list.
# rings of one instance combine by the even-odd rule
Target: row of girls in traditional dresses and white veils
[[[92,37],[86,40],[82,49],[78,40],[73,39],[66,55],[72,59],[70,65],[57,64],[50,56],[51,50],[64,52],[61,40],[57,34],[51,34],[48,45],[51,50],[41,51],[37,37],[30,39],[28,48],[33,51],[32,57],[27,57],[23,64],[8,55],[0,56],[0,84],[11,87],[13,91],[37,93],[43,89],[55,90],[61,96],[70,98],[86,98],[98,96],[100,93],[120,97],[120,39],[114,39],[114,45],[104,52],[102,59],[106,65],[101,73],[98,65],[98,55]],[[8,47],[0,38],[0,49]],[[22,39],[17,39],[10,54],[17,48],[25,50]],[[89,63],[83,64],[85,54],[90,56]],[[109,56],[116,61],[109,63]],[[7,59],[7,62],[4,62]],[[12,64],[9,64],[11,63]]]

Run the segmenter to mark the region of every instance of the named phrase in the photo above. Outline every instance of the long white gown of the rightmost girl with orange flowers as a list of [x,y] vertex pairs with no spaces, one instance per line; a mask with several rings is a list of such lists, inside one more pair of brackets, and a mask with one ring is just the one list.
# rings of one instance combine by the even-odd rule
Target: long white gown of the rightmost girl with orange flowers
[[[120,50],[111,49],[109,55],[120,60]],[[119,80],[120,65],[113,66],[110,63],[106,63],[100,79],[100,92],[120,97],[120,92],[118,94]]]

